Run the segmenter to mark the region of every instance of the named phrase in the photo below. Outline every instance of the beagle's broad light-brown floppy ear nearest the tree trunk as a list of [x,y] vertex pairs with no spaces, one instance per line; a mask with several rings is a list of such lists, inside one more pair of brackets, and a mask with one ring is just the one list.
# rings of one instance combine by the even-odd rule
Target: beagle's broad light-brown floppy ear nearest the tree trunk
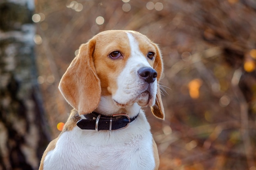
[[80,115],[91,113],[97,108],[101,97],[100,80],[92,59],[94,47],[94,40],[80,46],[79,54],[59,84],[62,95]]

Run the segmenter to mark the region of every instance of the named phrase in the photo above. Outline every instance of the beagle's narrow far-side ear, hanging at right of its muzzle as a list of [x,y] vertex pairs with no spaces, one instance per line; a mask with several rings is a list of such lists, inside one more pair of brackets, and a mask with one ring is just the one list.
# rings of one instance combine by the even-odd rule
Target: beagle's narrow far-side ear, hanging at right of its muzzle
[[162,104],[162,98],[161,98],[161,91],[160,91],[160,85],[159,81],[163,72],[163,62],[162,62],[162,55],[161,52],[156,44],[155,48],[157,49],[156,57],[155,57],[155,62],[154,62],[154,69],[157,71],[157,96],[155,99],[155,105],[151,106],[151,112],[153,115],[158,117],[159,119],[164,119],[164,107]]

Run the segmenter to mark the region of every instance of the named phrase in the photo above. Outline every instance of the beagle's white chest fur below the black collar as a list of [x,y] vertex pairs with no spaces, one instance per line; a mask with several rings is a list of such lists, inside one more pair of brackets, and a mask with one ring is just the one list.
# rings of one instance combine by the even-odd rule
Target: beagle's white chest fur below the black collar
[[130,125],[109,133],[78,127],[64,132],[45,157],[44,170],[153,170],[153,138],[144,113]]

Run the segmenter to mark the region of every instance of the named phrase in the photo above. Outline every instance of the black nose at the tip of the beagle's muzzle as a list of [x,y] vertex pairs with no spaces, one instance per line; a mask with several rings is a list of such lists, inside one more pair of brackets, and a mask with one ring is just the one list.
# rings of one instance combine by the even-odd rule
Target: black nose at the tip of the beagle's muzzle
[[142,67],[138,70],[138,73],[148,83],[154,82],[157,77],[157,72],[151,67]]

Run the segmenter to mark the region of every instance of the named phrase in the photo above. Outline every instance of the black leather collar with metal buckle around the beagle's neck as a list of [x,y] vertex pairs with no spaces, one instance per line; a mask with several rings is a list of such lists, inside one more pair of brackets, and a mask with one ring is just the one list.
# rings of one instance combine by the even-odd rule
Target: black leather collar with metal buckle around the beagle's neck
[[80,119],[79,121],[77,121],[76,125],[81,129],[111,131],[126,128],[130,124],[130,122],[134,121],[138,117],[138,115],[130,118],[125,114],[105,116],[100,115],[96,112],[92,112],[83,115],[85,119]]

